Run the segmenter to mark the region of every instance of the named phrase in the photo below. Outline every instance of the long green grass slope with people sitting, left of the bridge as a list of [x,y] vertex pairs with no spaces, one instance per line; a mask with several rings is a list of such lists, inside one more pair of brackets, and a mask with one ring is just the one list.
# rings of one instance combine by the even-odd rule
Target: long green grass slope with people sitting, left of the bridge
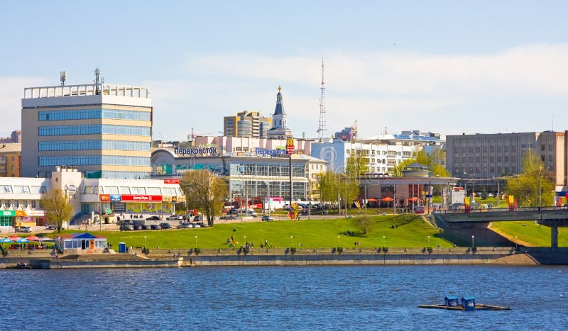
[[[119,242],[127,246],[168,249],[227,248],[227,238],[233,236],[239,245],[254,242],[259,247],[266,239],[274,247],[297,247],[302,244],[306,248],[321,247],[356,247],[354,242],[361,242],[357,247],[427,247],[430,236],[430,247],[452,247],[452,243],[442,239],[437,228],[425,222],[417,215],[373,216],[373,223],[366,235],[356,225],[356,218],[333,220],[300,220],[274,221],[245,224],[222,224],[212,228],[182,230],[149,230],[149,231],[89,231],[94,235],[107,237],[112,247],[118,248]],[[397,225],[397,228],[392,228]],[[354,235],[345,235],[349,230]],[[78,232],[65,230],[65,233]],[[339,236],[339,238],[338,238]],[[384,236],[384,238],[383,238]]]

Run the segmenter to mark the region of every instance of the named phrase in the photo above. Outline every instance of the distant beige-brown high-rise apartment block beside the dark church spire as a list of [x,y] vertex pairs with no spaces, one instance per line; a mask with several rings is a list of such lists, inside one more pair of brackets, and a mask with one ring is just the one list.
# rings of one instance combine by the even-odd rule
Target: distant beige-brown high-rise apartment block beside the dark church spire
[[238,111],[223,118],[223,135],[227,137],[266,138],[272,118],[259,111]]

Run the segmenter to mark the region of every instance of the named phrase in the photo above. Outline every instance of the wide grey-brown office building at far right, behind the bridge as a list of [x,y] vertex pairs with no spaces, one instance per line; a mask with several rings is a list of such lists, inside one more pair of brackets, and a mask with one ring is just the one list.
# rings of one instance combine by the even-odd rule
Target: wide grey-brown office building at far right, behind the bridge
[[568,131],[446,136],[446,164],[452,176],[472,179],[520,174],[523,156],[533,150],[555,176],[557,191],[566,191]]

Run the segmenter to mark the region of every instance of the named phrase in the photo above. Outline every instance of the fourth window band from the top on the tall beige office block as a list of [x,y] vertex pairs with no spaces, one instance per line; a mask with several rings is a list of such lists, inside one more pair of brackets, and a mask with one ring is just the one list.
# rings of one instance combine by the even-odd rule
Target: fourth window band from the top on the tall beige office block
[[65,165],[125,165],[150,167],[150,157],[124,157],[121,155],[67,155],[39,157],[40,167]]

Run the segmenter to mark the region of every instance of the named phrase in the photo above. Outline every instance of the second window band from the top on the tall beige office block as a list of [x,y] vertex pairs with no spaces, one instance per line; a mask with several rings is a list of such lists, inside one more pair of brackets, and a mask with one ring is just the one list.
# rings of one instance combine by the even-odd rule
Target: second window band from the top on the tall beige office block
[[147,126],[89,124],[89,125],[55,125],[40,126],[38,135],[150,135]]

